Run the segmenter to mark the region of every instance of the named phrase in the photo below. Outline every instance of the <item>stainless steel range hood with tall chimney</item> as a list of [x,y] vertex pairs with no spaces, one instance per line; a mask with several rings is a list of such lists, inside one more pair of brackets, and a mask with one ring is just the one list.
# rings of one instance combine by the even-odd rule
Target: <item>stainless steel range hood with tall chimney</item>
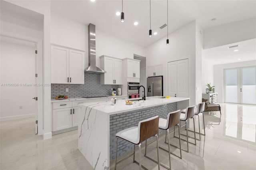
[[88,25],[88,59],[89,66],[84,69],[84,71],[92,73],[106,73],[103,69],[96,67],[96,34],[95,34],[95,25]]

